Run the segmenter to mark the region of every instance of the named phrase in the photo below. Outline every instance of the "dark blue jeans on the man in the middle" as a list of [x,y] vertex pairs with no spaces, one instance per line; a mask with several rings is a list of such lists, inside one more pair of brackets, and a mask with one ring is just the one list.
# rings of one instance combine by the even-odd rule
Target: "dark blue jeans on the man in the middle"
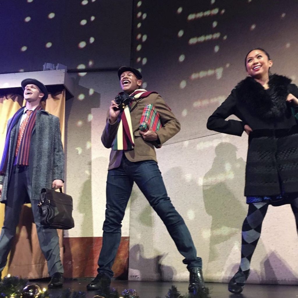
[[119,247],[121,222],[134,181],[164,222],[178,251],[184,256],[183,263],[187,265],[187,269],[202,268],[202,259],[197,257],[190,232],[167,196],[157,163],[153,160],[130,162],[123,155],[121,165],[108,171],[103,247],[98,259],[97,271],[105,273],[110,278],[113,277],[111,267]]

